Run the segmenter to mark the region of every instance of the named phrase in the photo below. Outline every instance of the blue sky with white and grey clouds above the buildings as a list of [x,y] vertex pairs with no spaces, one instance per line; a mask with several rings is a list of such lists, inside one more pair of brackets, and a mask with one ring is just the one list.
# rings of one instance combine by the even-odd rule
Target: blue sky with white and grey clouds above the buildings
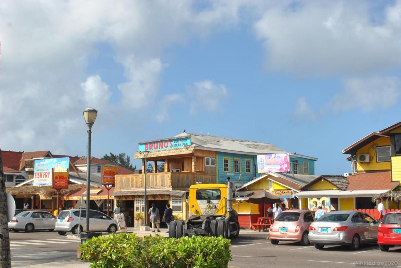
[[5,2],[2,150],[84,155],[93,106],[93,156],[186,129],[336,174],[343,148],[401,121],[399,1]]

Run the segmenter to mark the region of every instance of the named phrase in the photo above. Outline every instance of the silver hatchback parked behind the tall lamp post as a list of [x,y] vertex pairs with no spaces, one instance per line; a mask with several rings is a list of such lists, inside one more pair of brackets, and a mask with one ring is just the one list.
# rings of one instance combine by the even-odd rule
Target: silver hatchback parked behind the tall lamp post
[[[78,230],[86,231],[86,210],[81,210],[81,221],[79,221],[79,209],[61,211],[55,229],[60,235],[65,235],[67,232],[77,234]],[[100,211],[90,210],[89,231],[114,233],[117,232],[117,222]]]

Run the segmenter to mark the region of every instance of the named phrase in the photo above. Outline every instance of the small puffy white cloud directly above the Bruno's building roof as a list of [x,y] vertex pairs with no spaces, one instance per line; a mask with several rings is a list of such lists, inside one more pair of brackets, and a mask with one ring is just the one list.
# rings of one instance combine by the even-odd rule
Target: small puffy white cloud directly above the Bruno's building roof
[[227,88],[225,85],[216,85],[210,80],[195,82],[188,87],[189,93],[193,96],[191,102],[191,112],[199,110],[213,112],[219,110],[222,103],[227,98]]

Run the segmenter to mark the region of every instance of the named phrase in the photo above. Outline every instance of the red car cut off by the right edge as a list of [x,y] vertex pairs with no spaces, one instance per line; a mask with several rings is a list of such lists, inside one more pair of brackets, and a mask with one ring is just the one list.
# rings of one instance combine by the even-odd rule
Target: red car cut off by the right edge
[[384,215],[378,228],[377,244],[381,251],[388,251],[390,246],[401,246],[401,211]]

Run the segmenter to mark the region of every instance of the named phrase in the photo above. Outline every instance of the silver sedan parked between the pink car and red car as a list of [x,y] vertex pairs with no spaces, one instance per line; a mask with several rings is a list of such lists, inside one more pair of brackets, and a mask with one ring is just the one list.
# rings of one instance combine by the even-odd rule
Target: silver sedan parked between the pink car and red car
[[361,244],[377,242],[379,221],[359,211],[332,211],[309,226],[309,241],[315,248],[324,245],[349,245],[357,250]]

